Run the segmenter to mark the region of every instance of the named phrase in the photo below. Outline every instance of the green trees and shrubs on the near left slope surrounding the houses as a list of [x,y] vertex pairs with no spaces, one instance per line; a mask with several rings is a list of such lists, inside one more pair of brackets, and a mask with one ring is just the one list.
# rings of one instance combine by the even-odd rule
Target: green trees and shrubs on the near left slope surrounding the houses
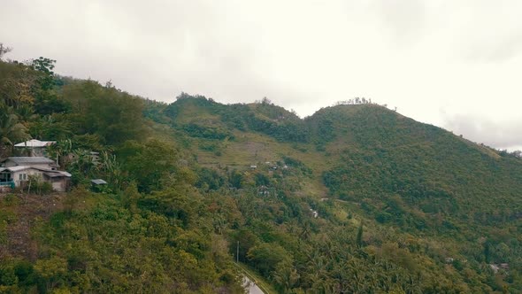
[[[76,186],[0,197],[0,292],[242,292],[211,198],[175,143],[154,135],[145,101],[56,76],[53,64],[0,62],[2,157],[31,137],[57,140],[48,153]],[[88,191],[98,177],[109,182],[102,194]]]

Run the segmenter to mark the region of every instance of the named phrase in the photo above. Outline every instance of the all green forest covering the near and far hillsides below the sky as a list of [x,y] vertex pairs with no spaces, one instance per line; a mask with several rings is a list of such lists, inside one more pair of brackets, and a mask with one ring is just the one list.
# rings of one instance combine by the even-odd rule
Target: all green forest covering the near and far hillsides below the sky
[[0,61],[0,158],[57,141],[72,174],[0,194],[0,292],[242,293],[244,270],[280,293],[522,291],[519,152],[366,99],[165,104],[55,63]]

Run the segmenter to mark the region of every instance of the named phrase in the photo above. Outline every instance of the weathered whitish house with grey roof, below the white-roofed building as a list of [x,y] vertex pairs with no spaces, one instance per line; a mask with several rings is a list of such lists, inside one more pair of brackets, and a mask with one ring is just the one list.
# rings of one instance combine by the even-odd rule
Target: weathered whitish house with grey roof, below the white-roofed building
[[58,171],[55,162],[44,157],[10,157],[0,161],[0,186],[20,187],[30,177],[50,182],[58,192],[67,190],[71,180],[71,174]]

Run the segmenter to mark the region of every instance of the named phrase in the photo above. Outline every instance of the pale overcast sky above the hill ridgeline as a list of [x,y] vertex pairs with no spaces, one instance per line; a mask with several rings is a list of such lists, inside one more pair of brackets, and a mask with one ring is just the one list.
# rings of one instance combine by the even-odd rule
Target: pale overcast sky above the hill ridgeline
[[522,1],[17,0],[5,58],[171,103],[267,97],[305,117],[354,97],[522,150]]

